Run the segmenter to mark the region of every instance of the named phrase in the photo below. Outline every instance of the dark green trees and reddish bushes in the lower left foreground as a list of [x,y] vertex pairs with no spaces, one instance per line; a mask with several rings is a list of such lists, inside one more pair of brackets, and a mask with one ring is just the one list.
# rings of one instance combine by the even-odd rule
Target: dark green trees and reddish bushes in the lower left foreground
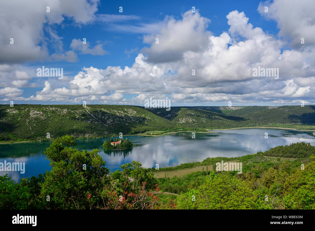
[[39,177],[10,181],[0,177],[1,209],[157,209],[157,180],[133,161],[108,176],[99,150],[77,150],[73,136],[52,142],[45,154],[52,170]]

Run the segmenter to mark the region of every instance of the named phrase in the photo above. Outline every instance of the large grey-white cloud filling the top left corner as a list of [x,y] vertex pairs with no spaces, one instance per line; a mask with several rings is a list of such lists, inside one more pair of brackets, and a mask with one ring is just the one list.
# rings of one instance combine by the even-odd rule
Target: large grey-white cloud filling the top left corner
[[[60,37],[50,27],[71,18],[77,24],[95,20],[99,0],[4,1],[0,7],[0,64],[49,60],[44,29],[60,49]],[[50,7],[50,12],[46,8]],[[48,40],[48,41],[47,41]],[[59,51],[58,51],[59,52]],[[69,54],[68,54],[69,55]],[[67,55],[66,55],[67,56]]]

